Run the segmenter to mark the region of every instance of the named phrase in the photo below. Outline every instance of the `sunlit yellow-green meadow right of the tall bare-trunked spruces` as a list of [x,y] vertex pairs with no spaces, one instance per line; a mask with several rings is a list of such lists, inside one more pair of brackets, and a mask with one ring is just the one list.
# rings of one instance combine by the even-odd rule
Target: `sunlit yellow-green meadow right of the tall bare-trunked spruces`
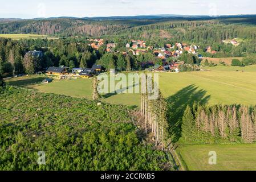
[[[256,66],[213,67],[212,71],[160,73],[160,88],[165,97],[178,105],[256,104]],[[242,71],[235,71],[237,69]]]

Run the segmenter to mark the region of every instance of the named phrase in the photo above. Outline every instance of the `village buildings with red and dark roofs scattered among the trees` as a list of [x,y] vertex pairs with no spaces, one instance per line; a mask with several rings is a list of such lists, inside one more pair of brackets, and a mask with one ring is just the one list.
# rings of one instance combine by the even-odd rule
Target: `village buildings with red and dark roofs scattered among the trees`
[[[93,49],[98,50],[101,46],[105,46],[106,52],[112,53],[120,53],[119,51],[115,51],[116,43],[104,43],[104,39],[87,39],[88,46],[91,46]],[[197,53],[198,46],[196,45],[188,45],[186,43],[176,43],[165,44],[164,47],[154,48],[153,46],[147,46],[144,40],[131,40],[131,42],[125,45],[127,51],[121,52],[124,56],[127,56],[129,53],[132,53],[133,56],[139,56],[144,53],[151,52],[156,56],[157,59],[161,60],[162,63],[155,63],[154,61],[148,60],[144,61],[141,64],[141,68],[144,68],[149,72],[172,72],[178,73],[182,66],[185,65],[185,61],[180,61],[179,58],[182,53],[187,52],[192,55],[198,56],[198,59],[202,59],[202,55]],[[212,48],[206,47],[205,52],[215,54],[216,51],[212,51]],[[40,51],[30,51],[27,52],[32,56],[40,56],[42,52]],[[173,58],[172,61],[169,61],[169,58]],[[175,60],[175,61],[174,61]],[[46,75],[52,78],[58,77],[59,79],[65,78],[91,78],[95,75],[99,75],[99,73],[106,71],[99,64],[94,64],[92,68],[68,68],[64,66],[59,67],[49,67],[46,70]],[[200,71],[200,67],[196,65],[196,71]],[[48,78],[44,80],[44,83],[51,82],[52,79]]]

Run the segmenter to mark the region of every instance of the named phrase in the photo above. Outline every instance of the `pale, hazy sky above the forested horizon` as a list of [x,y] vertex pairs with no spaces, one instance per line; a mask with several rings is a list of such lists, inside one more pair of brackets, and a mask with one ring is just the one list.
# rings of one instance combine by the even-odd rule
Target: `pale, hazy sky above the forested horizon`
[[0,5],[0,18],[256,14],[254,0],[0,0]]

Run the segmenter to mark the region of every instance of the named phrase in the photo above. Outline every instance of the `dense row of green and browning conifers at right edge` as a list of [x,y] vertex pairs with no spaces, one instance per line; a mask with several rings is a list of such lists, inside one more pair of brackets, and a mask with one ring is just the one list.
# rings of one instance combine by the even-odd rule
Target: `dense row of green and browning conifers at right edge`
[[256,107],[188,106],[182,117],[181,141],[253,143],[256,141]]

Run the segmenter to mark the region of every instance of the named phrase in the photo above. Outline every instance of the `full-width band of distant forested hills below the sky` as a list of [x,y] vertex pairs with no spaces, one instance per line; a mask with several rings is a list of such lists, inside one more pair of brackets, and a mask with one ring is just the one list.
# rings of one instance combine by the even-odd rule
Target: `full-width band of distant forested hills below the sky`
[[[137,17],[137,18],[136,18]],[[223,17],[165,17],[136,16],[112,18],[49,18],[49,19],[1,19],[0,34],[43,34],[56,36],[94,36],[118,35],[119,32],[166,30],[166,28],[205,26],[206,24],[256,24],[256,16]],[[203,23],[202,23],[203,22]],[[131,29],[132,28],[132,29]]]

